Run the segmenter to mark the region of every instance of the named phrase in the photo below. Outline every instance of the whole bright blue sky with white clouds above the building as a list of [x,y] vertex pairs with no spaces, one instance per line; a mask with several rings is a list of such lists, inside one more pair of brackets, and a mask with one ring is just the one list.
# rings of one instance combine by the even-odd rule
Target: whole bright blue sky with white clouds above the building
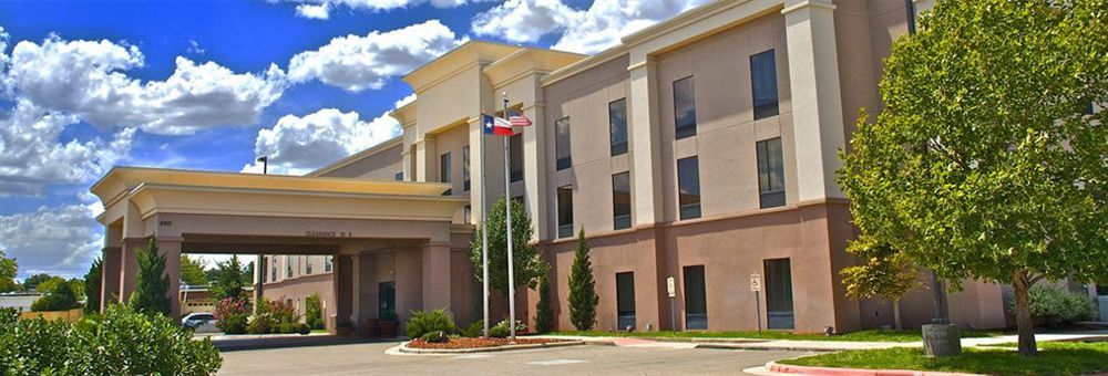
[[702,1],[0,2],[0,250],[83,274],[112,166],[302,174],[397,135],[400,77],[468,40],[595,53]]

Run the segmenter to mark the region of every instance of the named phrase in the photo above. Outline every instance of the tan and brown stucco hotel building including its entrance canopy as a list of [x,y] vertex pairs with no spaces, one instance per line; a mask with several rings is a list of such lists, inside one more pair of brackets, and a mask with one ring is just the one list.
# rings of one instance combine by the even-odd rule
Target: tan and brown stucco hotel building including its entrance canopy
[[[628,272],[634,299],[627,303],[625,296],[630,311],[623,311],[639,331],[752,330],[770,321],[799,332],[890,325],[888,302],[848,299],[840,283],[838,271],[854,262],[845,246],[856,229],[834,171],[835,153],[847,148],[859,109],[881,108],[881,61],[906,34],[906,20],[903,1],[736,0],[691,9],[593,56],[470,41],[404,76],[417,100],[391,114],[401,136],[308,177],[110,173],[93,188],[107,208],[101,217],[109,233],[105,275],[120,276],[105,278],[105,291],[129,293],[134,265],[127,252],[156,237],[171,252],[232,244],[332,257],[327,276],[302,278],[330,279],[335,320],[362,325],[376,317],[379,285],[393,283],[401,318],[409,310],[450,307],[466,324],[480,315],[480,284],[466,253],[484,209],[479,192],[485,190],[491,205],[506,189],[523,198],[534,219],[533,240],[553,267],[558,327],[570,330],[566,291],[575,242],[558,236],[557,197],[560,187],[568,187],[573,222],[566,224],[574,233],[584,229],[592,247],[598,328],[617,327],[616,274]],[[767,51],[774,59],[777,108],[756,118],[751,56]],[[686,77],[695,83],[696,132],[679,136],[675,82]],[[504,138],[483,136],[481,124],[482,114],[501,111],[502,94],[534,123],[516,129],[523,177],[506,188]],[[609,104],[620,100],[627,147],[616,153]],[[566,166],[557,163],[560,119],[570,124],[562,140],[572,157]],[[766,205],[757,145],[777,139],[781,174],[773,174],[783,180],[783,202]],[[698,160],[699,215],[683,219],[677,166],[689,157]],[[622,173],[629,174],[630,224],[617,229],[613,176]],[[403,181],[392,181],[397,177]],[[766,279],[776,301],[750,291],[752,274]],[[669,276],[676,280],[673,299]],[[288,281],[268,283],[267,295],[301,294],[281,288]],[[1004,326],[1001,286],[965,286],[951,295],[954,321]],[[920,291],[902,301],[909,326],[930,320],[929,299]],[[530,322],[537,293],[524,290],[516,300],[519,317]],[[769,303],[778,310],[772,315]],[[687,321],[696,315],[686,307],[698,305],[705,312],[693,325]],[[496,316],[502,309],[497,304]]]

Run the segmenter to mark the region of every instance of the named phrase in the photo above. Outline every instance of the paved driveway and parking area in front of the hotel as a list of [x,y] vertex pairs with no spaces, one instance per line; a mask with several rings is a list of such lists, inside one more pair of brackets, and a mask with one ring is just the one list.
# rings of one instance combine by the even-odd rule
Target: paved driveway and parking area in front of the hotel
[[807,353],[677,347],[573,346],[449,356],[389,355],[397,343],[240,349],[220,375],[737,375]]

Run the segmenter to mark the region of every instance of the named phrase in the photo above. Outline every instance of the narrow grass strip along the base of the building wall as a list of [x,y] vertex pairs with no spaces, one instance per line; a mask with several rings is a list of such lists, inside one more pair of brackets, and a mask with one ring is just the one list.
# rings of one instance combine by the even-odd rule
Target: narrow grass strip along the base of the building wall
[[[756,340],[799,340],[799,341],[853,341],[853,342],[916,342],[921,341],[920,331],[872,330],[851,332],[825,336],[818,333],[793,334],[781,331],[758,332],[554,332],[553,335],[576,336],[612,336],[612,337],[650,337],[650,338],[756,338]],[[992,337],[1003,335],[1001,332],[962,331],[963,338]]]

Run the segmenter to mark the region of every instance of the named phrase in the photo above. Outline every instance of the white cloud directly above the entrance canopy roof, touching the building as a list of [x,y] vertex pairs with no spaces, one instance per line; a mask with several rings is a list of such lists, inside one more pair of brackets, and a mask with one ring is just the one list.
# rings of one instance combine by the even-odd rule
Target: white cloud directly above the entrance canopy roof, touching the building
[[[269,156],[269,173],[304,175],[400,134],[400,123],[388,114],[363,122],[358,113],[324,108],[305,116],[286,115],[258,130],[254,152]],[[243,166],[261,173],[261,164]]]

